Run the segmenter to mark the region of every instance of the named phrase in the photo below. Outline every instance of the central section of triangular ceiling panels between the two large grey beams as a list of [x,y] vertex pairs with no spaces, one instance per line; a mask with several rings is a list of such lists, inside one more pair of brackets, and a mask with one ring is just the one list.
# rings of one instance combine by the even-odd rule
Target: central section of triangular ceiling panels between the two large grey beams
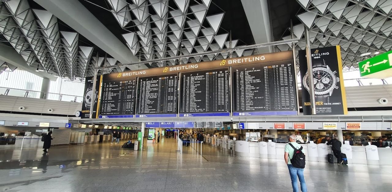
[[[94,1],[89,1],[94,4]],[[220,30],[224,11],[207,15],[211,0],[106,0],[132,54],[141,61],[186,56],[229,48],[229,32]],[[98,5],[97,5],[98,6]],[[235,47],[238,40],[232,40]],[[237,51],[232,57],[253,52]],[[211,61],[229,53],[184,57],[181,61],[151,63],[153,67]],[[115,65],[115,64],[113,64]],[[126,68],[116,68],[123,71]]]

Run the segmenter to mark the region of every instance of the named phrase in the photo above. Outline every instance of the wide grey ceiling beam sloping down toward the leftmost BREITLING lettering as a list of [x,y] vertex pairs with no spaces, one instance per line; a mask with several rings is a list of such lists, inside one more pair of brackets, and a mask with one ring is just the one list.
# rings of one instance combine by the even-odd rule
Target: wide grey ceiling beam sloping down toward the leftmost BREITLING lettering
[[[78,0],[34,1],[121,63],[139,61],[139,59],[132,54],[131,50],[114,36],[114,34]],[[137,70],[138,66],[129,66],[129,68],[131,70]],[[145,68],[147,68],[147,66],[140,66],[140,69]]]

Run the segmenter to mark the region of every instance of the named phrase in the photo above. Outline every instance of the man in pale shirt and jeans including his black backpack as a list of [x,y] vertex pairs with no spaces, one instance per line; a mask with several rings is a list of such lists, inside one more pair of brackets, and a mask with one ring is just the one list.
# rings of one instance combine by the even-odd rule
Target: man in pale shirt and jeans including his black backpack
[[301,191],[307,192],[305,178],[303,177],[303,168],[305,167],[305,154],[302,153],[302,146],[297,142],[295,134],[289,135],[289,143],[285,146],[285,161],[289,168],[291,185],[293,192],[298,192],[297,176],[301,183]]

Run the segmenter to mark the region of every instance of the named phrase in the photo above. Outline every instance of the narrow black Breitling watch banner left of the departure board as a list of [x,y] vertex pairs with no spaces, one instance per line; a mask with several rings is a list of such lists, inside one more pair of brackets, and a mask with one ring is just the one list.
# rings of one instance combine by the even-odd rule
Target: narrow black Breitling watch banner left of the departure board
[[[98,105],[98,97],[100,95],[100,85],[102,81],[102,75],[97,76],[97,82],[95,85],[95,91],[93,92],[93,80],[94,77],[86,77],[86,81],[84,84],[84,97],[82,104],[82,115],[80,118],[90,118],[90,106],[93,105],[93,118],[98,118],[97,116],[97,105]],[[91,100],[92,95],[95,94],[95,100]]]

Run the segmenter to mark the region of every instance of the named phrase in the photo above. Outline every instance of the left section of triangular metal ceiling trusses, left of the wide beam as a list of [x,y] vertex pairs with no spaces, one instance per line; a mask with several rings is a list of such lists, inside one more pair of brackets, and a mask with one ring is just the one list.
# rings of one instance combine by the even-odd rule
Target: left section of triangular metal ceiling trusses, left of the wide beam
[[78,33],[59,31],[53,14],[27,0],[0,2],[0,31],[29,66],[72,81],[92,74],[93,47],[78,46]]

